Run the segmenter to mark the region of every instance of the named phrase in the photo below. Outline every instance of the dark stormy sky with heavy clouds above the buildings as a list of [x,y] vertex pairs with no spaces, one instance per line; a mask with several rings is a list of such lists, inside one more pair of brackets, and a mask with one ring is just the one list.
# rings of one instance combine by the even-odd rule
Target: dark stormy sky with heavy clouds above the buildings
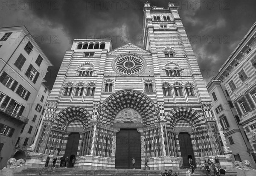
[[[148,1],[167,8],[170,0]],[[52,87],[65,51],[77,38],[112,38],[113,48],[142,46],[140,0],[0,0],[0,27],[26,26],[54,65]],[[173,0],[206,83],[256,21],[255,0]]]

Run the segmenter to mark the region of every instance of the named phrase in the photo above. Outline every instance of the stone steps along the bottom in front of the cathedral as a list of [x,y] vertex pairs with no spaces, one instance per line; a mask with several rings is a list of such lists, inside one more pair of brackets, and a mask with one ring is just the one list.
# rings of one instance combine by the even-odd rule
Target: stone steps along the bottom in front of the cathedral
[[[27,168],[14,176],[39,176],[42,168]],[[176,170],[175,170],[176,171]],[[163,170],[143,170],[143,169],[114,169],[114,170],[83,170],[74,168],[53,168],[53,170],[44,171],[42,176],[161,176]],[[176,171],[178,173],[178,171]],[[178,176],[185,176],[185,170],[180,170]],[[191,176],[205,176],[204,170],[195,170]],[[213,176],[213,174],[209,175]],[[236,172],[227,171],[226,176],[237,176]]]

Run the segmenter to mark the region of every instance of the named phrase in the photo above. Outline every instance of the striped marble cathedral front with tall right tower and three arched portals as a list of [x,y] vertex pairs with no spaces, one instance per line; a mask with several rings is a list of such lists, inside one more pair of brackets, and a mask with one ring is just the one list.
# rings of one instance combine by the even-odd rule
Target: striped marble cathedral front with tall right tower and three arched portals
[[224,158],[178,7],[144,4],[143,43],[73,40],[33,157],[76,157],[74,167],[98,169],[132,168],[132,158],[142,168],[145,156],[153,169]]

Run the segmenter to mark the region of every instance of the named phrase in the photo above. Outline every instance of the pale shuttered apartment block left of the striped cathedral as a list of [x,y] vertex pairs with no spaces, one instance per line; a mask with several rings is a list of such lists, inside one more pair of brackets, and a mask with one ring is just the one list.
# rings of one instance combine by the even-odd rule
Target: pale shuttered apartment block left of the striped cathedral
[[26,159],[50,92],[49,66],[25,26],[0,28],[0,169],[11,157]]

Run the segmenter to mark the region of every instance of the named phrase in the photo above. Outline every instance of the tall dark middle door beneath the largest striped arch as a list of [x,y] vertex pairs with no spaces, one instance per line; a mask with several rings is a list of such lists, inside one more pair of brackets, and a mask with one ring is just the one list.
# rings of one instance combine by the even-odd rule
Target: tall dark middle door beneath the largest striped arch
[[135,168],[141,168],[140,133],[137,129],[120,129],[116,133],[116,169],[132,169],[132,158]]

